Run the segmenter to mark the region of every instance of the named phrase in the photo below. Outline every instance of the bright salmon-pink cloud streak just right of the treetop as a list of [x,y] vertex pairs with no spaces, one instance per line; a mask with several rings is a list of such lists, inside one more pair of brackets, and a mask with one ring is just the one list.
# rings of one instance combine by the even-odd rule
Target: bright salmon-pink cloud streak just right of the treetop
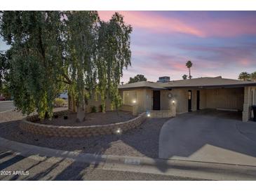
[[[124,16],[125,22],[132,25],[133,27],[140,27],[143,29],[149,29],[150,32],[156,33],[184,33],[192,34],[194,36],[205,36],[203,32],[196,29],[182,20],[176,18],[166,18],[155,13],[144,11],[118,11]],[[114,11],[98,11],[102,20],[109,20]]]

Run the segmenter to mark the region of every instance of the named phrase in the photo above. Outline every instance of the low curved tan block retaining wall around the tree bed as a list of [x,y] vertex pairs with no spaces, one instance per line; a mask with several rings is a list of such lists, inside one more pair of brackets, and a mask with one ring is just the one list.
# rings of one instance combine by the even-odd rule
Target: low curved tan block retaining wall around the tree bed
[[[67,111],[58,111],[54,114],[63,116],[67,114]],[[121,123],[72,127],[35,123],[36,121],[39,121],[38,116],[35,115],[24,118],[20,122],[20,128],[27,132],[32,132],[35,135],[46,135],[48,137],[90,137],[97,135],[120,134],[121,132],[138,128],[146,118],[146,113],[142,113],[129,121]]]

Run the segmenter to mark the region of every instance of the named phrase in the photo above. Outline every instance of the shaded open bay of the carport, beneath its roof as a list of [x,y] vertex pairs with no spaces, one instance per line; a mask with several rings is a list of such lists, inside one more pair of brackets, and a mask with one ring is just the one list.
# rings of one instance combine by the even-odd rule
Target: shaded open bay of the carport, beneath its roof
[[198,114],[235,118],[242,121],[244,102],[243,87],[191,88],[190,90],[191,110],[188,109],[188,111],[198,111]]

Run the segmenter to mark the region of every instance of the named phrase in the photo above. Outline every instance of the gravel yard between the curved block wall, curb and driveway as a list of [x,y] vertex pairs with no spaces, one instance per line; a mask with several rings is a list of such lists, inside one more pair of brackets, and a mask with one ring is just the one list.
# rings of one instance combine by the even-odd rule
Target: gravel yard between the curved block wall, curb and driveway
[[89,138],[57,138],[32,135],[20,130],[22,115],[15,111],[0,116],[0,137],[52,149],[81,151],[119,156],[148,156],[158,158],[161,126],[168,118],[148,118],[137,130],[123,135],[102,135]]

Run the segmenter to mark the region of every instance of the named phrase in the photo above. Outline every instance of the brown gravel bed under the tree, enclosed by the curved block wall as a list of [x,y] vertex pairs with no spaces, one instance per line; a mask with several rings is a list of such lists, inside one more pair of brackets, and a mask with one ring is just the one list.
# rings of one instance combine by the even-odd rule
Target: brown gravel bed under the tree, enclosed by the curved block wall
[[68,114],[67,119],[62,116],[58,118],[52,118],[52,120],[43,120],[37,123],[47,124],[47,125],[63,125],[63,126],[87,126],[87,125],[106,125],[111,123],[119,123],[123,121],[128,121],[135,118],[133,114],[126,111],[107,111],[106,113],[90,113],[86,114],[86,121],[81,123],[76,122],[76,114]]

